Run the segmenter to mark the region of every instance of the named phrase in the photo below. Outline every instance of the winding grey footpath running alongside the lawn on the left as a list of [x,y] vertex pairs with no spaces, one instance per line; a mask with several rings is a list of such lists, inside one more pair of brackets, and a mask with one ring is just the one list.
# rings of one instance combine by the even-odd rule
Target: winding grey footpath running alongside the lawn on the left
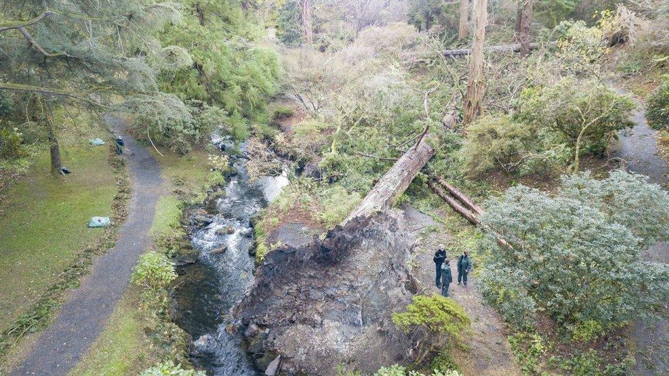
[[88,351],[130,283],[132,267],[150,245],[149,228],[163,191],[158,162],[125,133],[120,118],[105,116],[115,134],[121,134],[127,149],[130,173],[129,211],[113,249],[101,255],[82,284],[66,298],[54,323],[42,332],[32,350],[12,375],[64,375]]

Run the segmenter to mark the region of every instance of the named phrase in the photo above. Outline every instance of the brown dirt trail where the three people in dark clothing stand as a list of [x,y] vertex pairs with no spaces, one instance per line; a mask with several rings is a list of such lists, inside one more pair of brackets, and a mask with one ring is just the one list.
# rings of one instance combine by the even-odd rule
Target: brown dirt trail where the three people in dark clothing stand
[[[406,223],[415,232],[429,225],[435,225],[430,216],[413,208],[404,209]],[[432,258],[439,243],[448,244],[449,235],[444,232],[431,233],[417,240],[415,253],[415,273],[424,286],[423,294],[439,294],[435,286],[435,263]],[[468,339],[468,351],[459,351],[456,358],[465,375],[522,375],[513,361],[507,337],[502,332],[504,325],[500,315],[483,303],[481,293],[476,289],[476,278],[470,275],[467,287],[457,286],[457,257],[449,252],[451,273],[454,283],[450,285],[450,297],[460,303],[472,319],[472,336]],[[476,260],[472,260],[476,266]]]

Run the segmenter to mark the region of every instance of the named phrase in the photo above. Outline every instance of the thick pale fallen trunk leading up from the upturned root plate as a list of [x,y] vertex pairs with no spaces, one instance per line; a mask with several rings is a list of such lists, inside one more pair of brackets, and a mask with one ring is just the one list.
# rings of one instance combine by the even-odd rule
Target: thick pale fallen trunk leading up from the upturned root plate
[[[453,125],[456,120],[455,114],[448,114],[444,117],[443,123]],[[435,149],[429,144],[428,138],[430,138],[430,134],[428,134],[426,128],[416,144],[404,153],[387,173],[376,182],[374,188],[348,214],[341,225],[345,225],[358,216],[369,216],[374,212],[390,208],[406,188],[409,188],[409,184],[411,184],[418,171],[435,155]]]

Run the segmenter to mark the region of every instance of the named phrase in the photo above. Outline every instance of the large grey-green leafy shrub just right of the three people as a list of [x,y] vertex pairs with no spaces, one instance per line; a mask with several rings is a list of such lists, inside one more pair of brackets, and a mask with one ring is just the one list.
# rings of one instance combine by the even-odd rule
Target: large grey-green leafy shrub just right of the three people
[[542,310],[581,334],[596,329],[588,321],[606,331],[653,314],[669,297],[669,268],[642,255],[668,238],[669,195],[622,171],[564,181],[555,196],[517,186],[486,205],[481,221],[511,247],[481,242],[484,296],[515,326]]

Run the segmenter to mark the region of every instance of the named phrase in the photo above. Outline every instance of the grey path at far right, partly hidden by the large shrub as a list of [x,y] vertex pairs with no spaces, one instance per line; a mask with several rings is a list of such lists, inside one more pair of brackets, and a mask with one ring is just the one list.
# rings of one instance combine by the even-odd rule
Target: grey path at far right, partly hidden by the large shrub
[[[617,89],[622,94],[625,90]],[[613,156],[622,159],[628,171],[647,175],[653,183],[667,188],[669,182],[667,163],[657,146],[657,131],[646,124],[646,111],[640,101],[632,114],[633,129],[620,133],[620,142]],[[648,260],[669,263],[669,243],[659,242],[645,253]],[[669,308],[666,307],[669,314]],[[669,318],[649,323],[639,322],[633,327],[633,338],[637,341],[635,375],[669,374]]]

